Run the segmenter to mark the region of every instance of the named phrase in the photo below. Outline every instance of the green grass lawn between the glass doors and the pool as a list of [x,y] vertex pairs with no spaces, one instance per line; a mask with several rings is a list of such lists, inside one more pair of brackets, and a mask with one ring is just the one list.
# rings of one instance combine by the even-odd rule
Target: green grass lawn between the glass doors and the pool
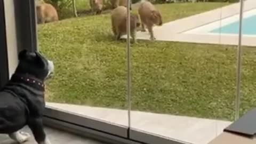
[[[223,3],[165,4],[164,21],[220,7]],[[116,42],[110,15],[66,19],[39,26],[41,51],[55,62],[48,100],[126,108],[126,44]],[[132,109],[232,119],[236,47],[138,41],[132,45]],[[256,51],[243,55],[243,102],[255,105]]]

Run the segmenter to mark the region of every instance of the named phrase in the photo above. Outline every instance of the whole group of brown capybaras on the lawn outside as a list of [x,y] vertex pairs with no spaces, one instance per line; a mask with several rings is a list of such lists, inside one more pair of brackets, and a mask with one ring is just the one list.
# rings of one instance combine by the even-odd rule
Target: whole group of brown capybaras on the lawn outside
[[[111,6],[114,9],[111,12],[111,26],[115,39],[118,40],[121,36],[126,35],[127,31],[127,0],[110,0]],[[96,14],[101,13],[103,0],[90,0],[91,9]],[[130,9],[131,3],[130,3]],[[57,10],[43,0],[36,1],[37,23],[47,23],[58,21]],[[141,31],[146,31],[150,34],[150,39],[155,39],[153,27],[154,25],[162,26],[162,15],[156,7],[149,1],[142,0],[139,4],[138,14],[130,13],[130,33],[133,42],[136,43],[136,33],[141,26]]]

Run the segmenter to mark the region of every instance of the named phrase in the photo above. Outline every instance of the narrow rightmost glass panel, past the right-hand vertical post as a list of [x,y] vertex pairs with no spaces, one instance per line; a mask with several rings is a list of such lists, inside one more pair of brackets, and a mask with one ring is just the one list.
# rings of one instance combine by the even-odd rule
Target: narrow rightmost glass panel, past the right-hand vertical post
[[239,116],[243,116],[256,106],[255,96],[255,35],[256,28],[253,23],[256,21],[256,3],[255,1],[244,1],[243,20],[242,20],[242,46],[241,46],[241,106],[239,107]]

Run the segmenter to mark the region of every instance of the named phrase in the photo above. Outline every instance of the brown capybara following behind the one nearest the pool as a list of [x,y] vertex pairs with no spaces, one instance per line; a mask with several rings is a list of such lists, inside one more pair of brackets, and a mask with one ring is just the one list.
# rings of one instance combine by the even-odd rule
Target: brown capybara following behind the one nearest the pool
[[[118,6],[111,13],[111,24],[112,30],[116,40],[120,39],[121,36],[126,35],[126,24],[127,24],[127,8],[124,6]],[[130,14],[130,30],[133,42],[136,43],[137,27],[140,26],[139,17],[136,14]]]

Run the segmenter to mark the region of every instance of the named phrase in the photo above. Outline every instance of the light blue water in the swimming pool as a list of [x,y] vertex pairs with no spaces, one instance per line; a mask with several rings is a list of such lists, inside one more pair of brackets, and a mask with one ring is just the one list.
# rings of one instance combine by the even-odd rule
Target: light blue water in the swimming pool
[[[229,25],[221,28],[213,29],[210,33],[221,34],[238,34],[239,33],[239,21],[230,23]],[[242,34],[244,35],[256,35],[256,15],[243,19]]]

